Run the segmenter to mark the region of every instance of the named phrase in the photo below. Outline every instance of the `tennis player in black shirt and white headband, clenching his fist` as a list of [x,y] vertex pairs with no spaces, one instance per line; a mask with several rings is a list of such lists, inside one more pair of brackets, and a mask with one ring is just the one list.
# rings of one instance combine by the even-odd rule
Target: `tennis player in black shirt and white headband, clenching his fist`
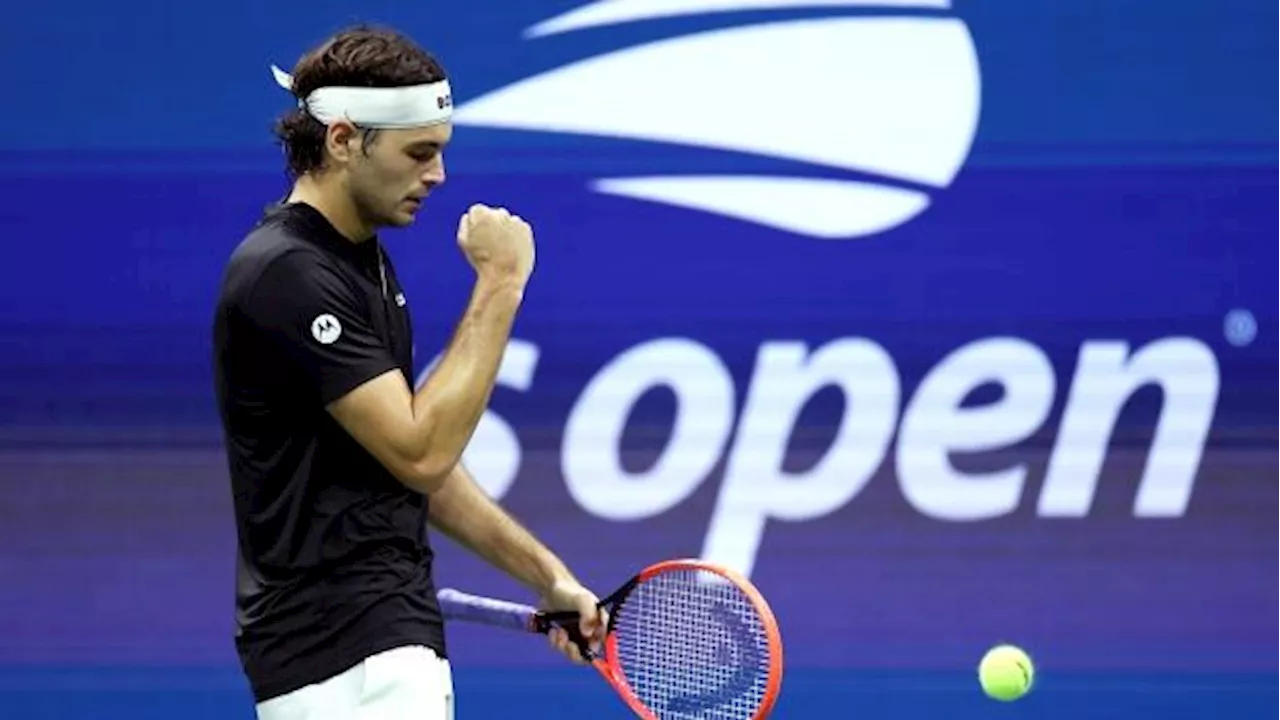
[[[534,268],[529,224],[475,205],[458,246],[470,302],[411,389],[412,324],[378,229],[444,182],[452,95],[440,64],[387,29],[343,31],[275,79],[292,192],[229,259],[215,386],[238,536],[236,644],[261,720],[438,720],[453,714],[430,523],[576,610],[596,596],[460,464]],[[563,630],[552,644],[582,661]]]

